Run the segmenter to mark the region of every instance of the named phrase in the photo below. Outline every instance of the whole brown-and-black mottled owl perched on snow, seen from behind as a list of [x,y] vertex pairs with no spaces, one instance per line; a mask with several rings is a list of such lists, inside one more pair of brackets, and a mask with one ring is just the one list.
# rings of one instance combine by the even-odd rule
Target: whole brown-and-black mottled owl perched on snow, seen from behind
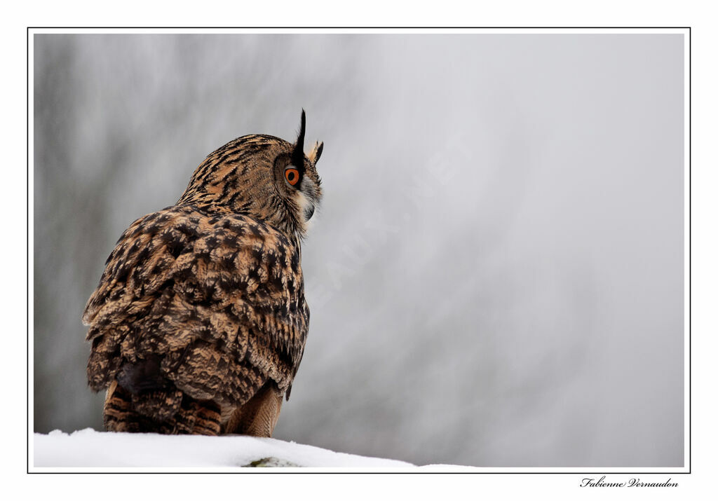
[[307,340],[300,243],[322,197],[294,144],[243,136],[117,241],[85,307],[107,431],[271,436]]

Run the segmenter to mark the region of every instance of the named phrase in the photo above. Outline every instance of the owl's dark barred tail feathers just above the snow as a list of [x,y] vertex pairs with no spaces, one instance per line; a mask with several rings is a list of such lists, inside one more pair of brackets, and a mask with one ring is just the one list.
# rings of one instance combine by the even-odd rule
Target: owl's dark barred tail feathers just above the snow
[[220,407],[180,390],[133,394],[114,381],[107,391],[105,429],[129,433],[218,435]]

